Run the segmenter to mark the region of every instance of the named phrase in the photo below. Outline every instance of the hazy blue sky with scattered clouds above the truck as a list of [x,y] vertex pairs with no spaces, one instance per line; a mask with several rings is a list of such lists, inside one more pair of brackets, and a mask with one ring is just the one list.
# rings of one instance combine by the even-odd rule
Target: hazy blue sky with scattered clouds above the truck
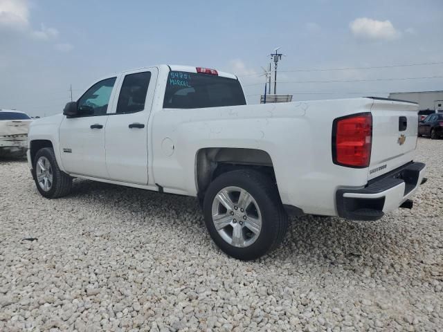
[[257,104],[278,46],[293,100],[443,90],[443,1],[0,0],[0,108],[60,113],[71,85],[154,64],[235,73]]

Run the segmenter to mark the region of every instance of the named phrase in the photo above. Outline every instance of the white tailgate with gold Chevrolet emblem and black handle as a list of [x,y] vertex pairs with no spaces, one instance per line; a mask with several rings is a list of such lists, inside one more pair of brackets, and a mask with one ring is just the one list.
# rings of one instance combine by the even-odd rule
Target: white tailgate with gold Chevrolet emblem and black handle
[[374,98],[372,150],[368,178],[376,178],[414,158],[418,104]]

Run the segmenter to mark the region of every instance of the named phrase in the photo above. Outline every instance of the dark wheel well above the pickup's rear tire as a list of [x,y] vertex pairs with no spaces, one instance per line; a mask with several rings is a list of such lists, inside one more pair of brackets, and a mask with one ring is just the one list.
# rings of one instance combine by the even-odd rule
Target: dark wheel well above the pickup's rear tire
[[217,176],[235,169],[257,169],[275,181],[271,156],[259,149],[209,147],[197,153],[195,165],[196,184],[199,197],[203,197],[208,185]]

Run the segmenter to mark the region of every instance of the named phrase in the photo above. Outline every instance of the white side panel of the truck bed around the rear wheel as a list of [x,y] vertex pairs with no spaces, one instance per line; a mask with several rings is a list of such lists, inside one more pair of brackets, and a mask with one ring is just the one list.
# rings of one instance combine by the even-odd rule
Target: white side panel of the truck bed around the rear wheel
[[[336,189],[365,185],[368,169],[332,163],[332,122],[340,116],[368,112],[371,106],[372,100],[358,98],[162,109],[152,118],[154,181],[166,191],[195,196],[199,149],[260,149],[271,156],[284,204],[305,213],[334,215]],[[168,144],[173,145],[170,156],[165,153]]]

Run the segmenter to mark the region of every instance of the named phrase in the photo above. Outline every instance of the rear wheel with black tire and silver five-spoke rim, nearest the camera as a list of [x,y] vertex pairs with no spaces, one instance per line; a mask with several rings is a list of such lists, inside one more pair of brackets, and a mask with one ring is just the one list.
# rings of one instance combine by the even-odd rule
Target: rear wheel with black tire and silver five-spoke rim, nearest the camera
[[[222,191],[228,193],[233,208],[226,208],[221,203],[224,199],[219,200]],[[242,204],[242,198],[248,197],[247,194],[252,197],[249,205]],[[244,209],[240,209],[242,206]],[[213,219],[215,215],[219,216],[219,221],[216,221],[219,230]],[[244,261],[262,257],[276,248],[282,242],[288,225],[288,216],[275,183],[269,176],[249,169],[221,174],[210,183],[204,198],[204,217],[206,228],[215,244],[227,255]],[[260,221],[260,230],[257,221]],[[220,229],[224,224],[226,226]],[[239,229],[241,231],[235,231]],[[234,237],[234,234],[241,235]],[[239,238],[242,240],[237,241]]]

